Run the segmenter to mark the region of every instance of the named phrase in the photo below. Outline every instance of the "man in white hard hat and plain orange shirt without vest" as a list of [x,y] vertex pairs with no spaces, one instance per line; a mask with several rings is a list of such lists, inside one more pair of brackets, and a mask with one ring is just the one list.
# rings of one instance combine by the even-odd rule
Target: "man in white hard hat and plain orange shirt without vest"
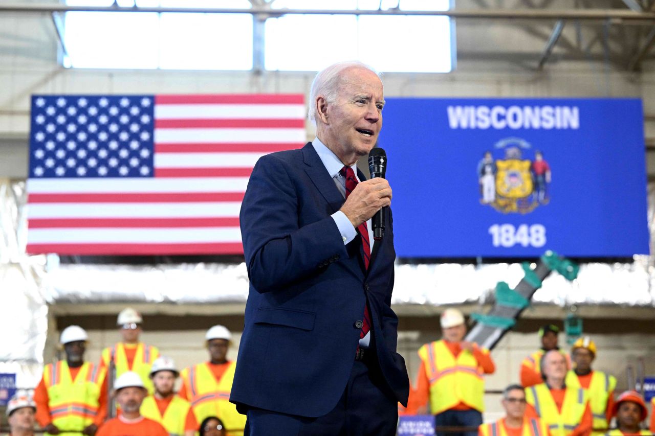
[[121,414],[105,422],[97,436],[169,436],[159,422],[149,420],[139,412],[147,395],[139,374],[124,372],[116,379],[114,390]]

